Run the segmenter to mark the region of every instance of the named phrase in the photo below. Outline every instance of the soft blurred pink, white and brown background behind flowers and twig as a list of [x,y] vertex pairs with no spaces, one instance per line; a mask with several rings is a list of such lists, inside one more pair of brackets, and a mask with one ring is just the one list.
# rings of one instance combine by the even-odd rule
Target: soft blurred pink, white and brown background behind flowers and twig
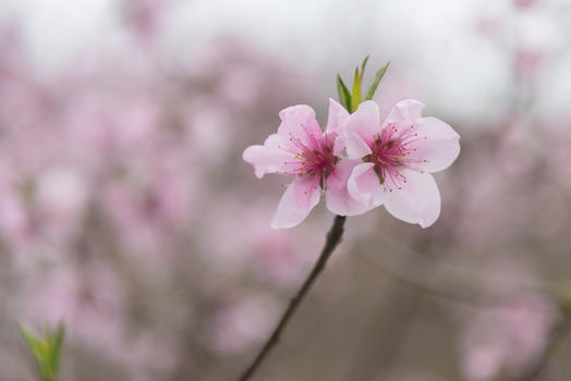
[[366,54],[462,136],[442,214],[350,218],[256,379],[570,380],[570,37],[568,0],[1,0],[0,380],[60,320],[61,381],[235,379],[333,218],[270,230],[242,151]]

